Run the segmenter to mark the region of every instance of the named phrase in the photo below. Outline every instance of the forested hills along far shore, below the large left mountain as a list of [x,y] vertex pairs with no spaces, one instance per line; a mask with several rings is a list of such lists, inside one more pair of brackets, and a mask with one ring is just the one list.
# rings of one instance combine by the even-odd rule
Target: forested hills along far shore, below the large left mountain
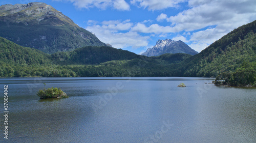
[[108,46],[46,54],[0,38],[0,77],[174,76],[158,59]]

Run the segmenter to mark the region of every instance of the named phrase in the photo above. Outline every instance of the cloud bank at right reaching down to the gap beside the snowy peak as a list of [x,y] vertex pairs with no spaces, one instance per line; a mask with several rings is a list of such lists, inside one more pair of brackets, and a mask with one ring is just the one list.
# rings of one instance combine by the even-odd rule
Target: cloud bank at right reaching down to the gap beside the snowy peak
[[174,29],[191,33],[190,47],[199,52],[234,28],[256,19],[256,3],[251,0],[190,0],[188,5],[189,9],[166,20]]

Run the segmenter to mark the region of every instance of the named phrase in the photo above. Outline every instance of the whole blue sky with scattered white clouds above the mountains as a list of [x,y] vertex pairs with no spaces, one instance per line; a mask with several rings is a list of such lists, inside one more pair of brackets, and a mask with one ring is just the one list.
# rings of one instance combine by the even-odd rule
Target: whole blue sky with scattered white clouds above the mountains
[[234,28],[256,20],[254,0],[14,0],[43,2],[102,42],[140,54],[158,39],[181,40],[200,52]]

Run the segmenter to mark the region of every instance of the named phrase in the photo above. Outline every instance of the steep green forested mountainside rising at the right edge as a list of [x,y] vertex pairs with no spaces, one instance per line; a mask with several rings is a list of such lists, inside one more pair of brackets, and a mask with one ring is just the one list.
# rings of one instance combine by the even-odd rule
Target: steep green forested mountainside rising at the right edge
[[[246,64],[247,63],[247,64]],[[216,77],[256,64],[256,20],[240,26],[177,65],[177,76]]]

